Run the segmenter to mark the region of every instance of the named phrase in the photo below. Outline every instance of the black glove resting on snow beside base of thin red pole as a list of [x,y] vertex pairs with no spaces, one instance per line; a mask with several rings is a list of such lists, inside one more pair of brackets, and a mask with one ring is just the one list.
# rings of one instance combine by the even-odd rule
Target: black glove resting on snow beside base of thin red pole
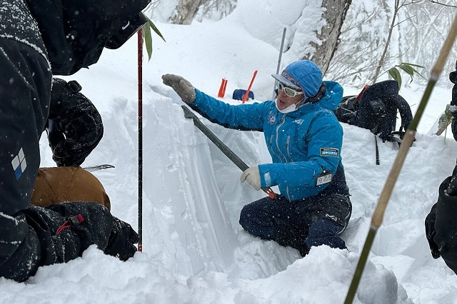
[[136,253],[137,249],[134,244],[139,240],[138,233],[128,223],[119,218],[113,218],[113,230],[111,230],[104,253],[116,256],[120,260],[128,260]]

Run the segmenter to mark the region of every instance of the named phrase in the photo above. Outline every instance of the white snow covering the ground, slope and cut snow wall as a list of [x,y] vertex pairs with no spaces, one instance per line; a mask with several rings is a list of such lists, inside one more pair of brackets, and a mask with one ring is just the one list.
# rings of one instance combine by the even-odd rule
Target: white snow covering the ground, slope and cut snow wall
[[[398,148],[378,141],[381,164],[376,166],[373,134],[343,123],[341,155],[353,203],[343,233],[348,250],[320,246],[301,258],[293,248],[246,233],[238,223],[241,208],[265,194],[239,182],[241,171],[184,118],[182,101],[164,86],[161,75],[180,74],[213,96],[221,78],[226,78],[226,95],[221,99],[238,104],[231,93],[247,88],[258,70],[251,89],[256,101],[265,101],[273,93],[271,74],[276,73],[283,27],[298,31],[290,25],[291,19],[300,17],[297,11],[303,18],[321,11],[314,1],[288,0],[279,5],[270,0],[261,1],[261,6],[260,0],[238,2],[233,14],[217,22],[191,26],[157,22],[166,42],[153,37],[151,61],[144,52],[143,252],[121,262],[93,245],[81,258],[40,268],[26,283],[0,278],[1,303],[343,303]],[[287,11],[289,6],[293,9]],[[313,41],[314,34],[303,26],[316,23],[300,24],[301,43]],[[292,60],[285,53],[281,69]],[[134,36],[121,49],[105,50],[90,69],[64,77],[81,83],[82,93],[104,120],[104,138],[82,166],[115,166],[94,175],[111,198],[114,216],[136,230],[137,65]],[[341,84],[345,96],[361,89]],[[423,91],[414,83],[401,88],[413,113]],[[428,135],[450,100],[451,84],[434,89],[354,303],[457,303],[457,275],[441,258],[433,260],[424,228],[438,186],[456,163],[457,143],[450,131],[446,139]],[[248,166],[270,161],[262,133],[202,121]],[[54,166],[46,136],[40,145],[41,166]]]

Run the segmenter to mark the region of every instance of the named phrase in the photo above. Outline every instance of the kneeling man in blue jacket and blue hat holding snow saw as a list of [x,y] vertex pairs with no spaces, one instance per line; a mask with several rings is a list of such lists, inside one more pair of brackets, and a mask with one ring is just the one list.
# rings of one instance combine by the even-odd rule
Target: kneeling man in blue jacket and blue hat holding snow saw
[[241,210],[239,223],[251,235],[275,240],[308,254],[312,246],[346,248],[340,237],[352,205],[341,163],[343,128],[333,114],[343,88],[322,81],[312,61],[288,65],[277,81],[276,101],[229,105],[194,88],[181,76],[164,83],[211,122],[238,130],[263,131],[273,163],[246,169],[246,181],[260,190],[278,186],[280,195],[261,198]]

